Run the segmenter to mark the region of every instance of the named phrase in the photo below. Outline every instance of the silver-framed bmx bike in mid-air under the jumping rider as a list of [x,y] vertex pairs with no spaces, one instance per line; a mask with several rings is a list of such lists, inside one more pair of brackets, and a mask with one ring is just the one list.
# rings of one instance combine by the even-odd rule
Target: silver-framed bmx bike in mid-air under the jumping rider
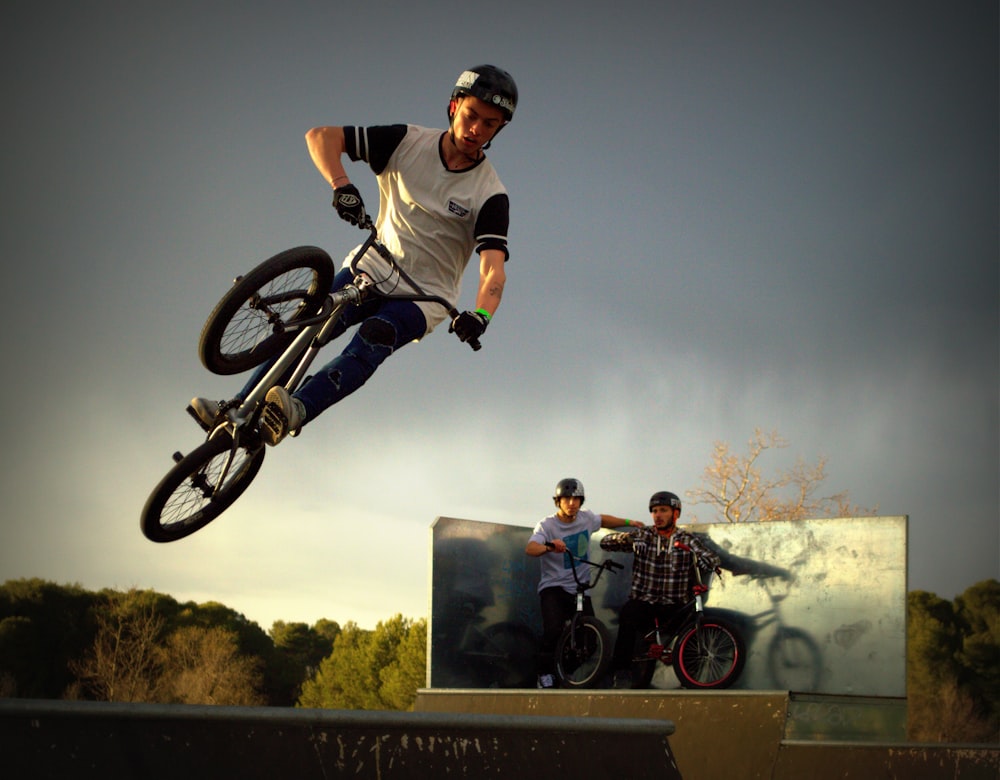
[[[370,219],[360,227],[369,235],[351,259],[354,278],[344,287],[331,292],[335,268],[324,250],[295,247],[238,276],[209,315],[198,344],[209,371],[238,374],[274,362],[244,398],[222,403],[211,425],[188,408],[207,437],[187,455],[174,453],[174,466],[147,499],[140,527],[148,539],[172,542],[193,534],[246,491],[264,462],[261,426],[269,413],[268,390],[283,384],[292,393],[302,384],[316,354],[336,335],[347,306],[381,296],[431,301],[458,316],[449,301],[425,293],[399,266]],[[468,343],[474,350],[481,346],[477,340]]]

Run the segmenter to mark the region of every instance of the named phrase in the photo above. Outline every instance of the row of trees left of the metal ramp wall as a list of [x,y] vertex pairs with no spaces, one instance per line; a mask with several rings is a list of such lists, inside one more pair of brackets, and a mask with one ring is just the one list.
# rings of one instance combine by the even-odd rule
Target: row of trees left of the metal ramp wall
[[332,620],[271,630],[216,602],[41,579],[0,586],[0,696],[410,709],[426,621]]

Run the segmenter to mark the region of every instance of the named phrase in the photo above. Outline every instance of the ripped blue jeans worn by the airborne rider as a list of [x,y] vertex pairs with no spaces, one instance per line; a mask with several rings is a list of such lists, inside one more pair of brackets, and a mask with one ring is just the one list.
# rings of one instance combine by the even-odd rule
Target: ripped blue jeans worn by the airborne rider
[[[333,278],[330,289],[339,290],[353,279],[351,270],[343,268]],[[373,296],[361,306],[348,304],[344,308],[340,321],[334,326],[333,338],[358,323],[361,327],[344,350],[295,392],[295,397],[306,408],[307,421],[361,387],[382,361],[397,349],[421,338],[427,330],[424,313],[413,301]],[[268,361],[253,372],[240,391],[240,398],[246,397],[273,363],[273,360]],[[282,378],[285,380],[287,377]]]

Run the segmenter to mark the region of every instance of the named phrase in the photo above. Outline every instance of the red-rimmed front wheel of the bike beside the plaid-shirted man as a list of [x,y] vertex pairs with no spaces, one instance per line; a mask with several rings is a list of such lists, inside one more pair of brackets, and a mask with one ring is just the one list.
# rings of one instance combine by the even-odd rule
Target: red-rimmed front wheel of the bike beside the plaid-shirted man
[[674,673],[685,688],[728,688],[744,663],[746,649],[739,632],[716,618],[688,624],[674,647]]

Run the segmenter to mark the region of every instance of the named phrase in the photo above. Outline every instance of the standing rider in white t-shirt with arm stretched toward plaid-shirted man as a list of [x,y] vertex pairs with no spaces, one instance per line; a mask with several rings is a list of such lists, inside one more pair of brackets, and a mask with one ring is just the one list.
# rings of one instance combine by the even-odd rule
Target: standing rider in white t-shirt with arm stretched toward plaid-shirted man
[[[542,612],[542,647],[538,662],[538,687],[555,686],[555,659],[553,657],[559,634],[566,621],[576,611],[576,580],[573,563],[567,552],[579,558],[588,557],[590,537],[600,528],[621,528],[642,523],[597,514],[583,509],[583,483],[578,479],[561,479],[552,496],[556,513],[549,515],[535,526],[524,551],[539,558],[541,577],[538,597]],[[589,596],[584,597],[584,613],[594,614]]]

